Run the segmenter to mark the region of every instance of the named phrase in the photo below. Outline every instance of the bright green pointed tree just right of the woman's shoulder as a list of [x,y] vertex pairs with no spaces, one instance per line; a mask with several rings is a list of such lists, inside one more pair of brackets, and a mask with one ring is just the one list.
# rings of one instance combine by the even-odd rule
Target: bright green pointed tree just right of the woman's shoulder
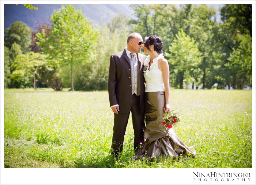
[[170,54],[166,53],[165,55],[170,58],[168,62],[174,67],[174,72],[178,74],[177,80],[180,82],[180,88],[183,88],[184,80],[187,85],[186,88],[188,88],[188,81],[194,81],[191,71],[195,70],[202,60],[195,40],[191,39],[181,29],[176,34],[176,38],[174,38],[172,45],[169,47],[169,51]]

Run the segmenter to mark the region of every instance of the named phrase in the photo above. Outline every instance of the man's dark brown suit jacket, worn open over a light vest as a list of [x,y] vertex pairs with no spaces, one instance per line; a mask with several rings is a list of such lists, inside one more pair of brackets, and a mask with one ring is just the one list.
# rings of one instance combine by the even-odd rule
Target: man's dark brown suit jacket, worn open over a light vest
[[[143,76],[143,63],[147,58],[137,53],[138,65],[140,67],[140,109],[142,114],[144,108],[145,79]],[[119,113],[129,113],[132,107],[132,80],[131,66],[126,51],[120,51],[110,56],[108,91],[110,107],[119,105]]]

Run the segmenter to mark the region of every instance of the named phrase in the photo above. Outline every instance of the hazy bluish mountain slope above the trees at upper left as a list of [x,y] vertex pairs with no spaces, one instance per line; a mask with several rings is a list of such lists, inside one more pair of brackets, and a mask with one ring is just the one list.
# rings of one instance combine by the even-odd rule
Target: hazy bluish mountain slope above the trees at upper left
[[[4,4],[4,29],[11,27],[15,21],[23,21],[29,27],[34,28],[36,21],[48,21],[54,10],[61,8],[61,4],[33,4],[38,10],[26,8],[23,4]],[[83,14],[93,20],[93,23],[100,23],[101,20],[108,23],[118,13],[123,13],[127,18],[136,19],[132,16],[132,10],[128,5],[121,4],[74,4],[75,9],[81,7]]]

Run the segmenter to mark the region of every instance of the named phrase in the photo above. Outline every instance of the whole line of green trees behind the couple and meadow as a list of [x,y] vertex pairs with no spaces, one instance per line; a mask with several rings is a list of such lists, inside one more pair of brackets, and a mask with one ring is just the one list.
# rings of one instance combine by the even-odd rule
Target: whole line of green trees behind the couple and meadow
[[14,22],[4,31],[5,88],[107,90],[110,55],[124,50],[131,32],[163,40],[173,88],[252,87],[251,4],[225,4],[221,23],[205,4],[130,7],[137,20],[119,14],[99,26],[72,5],[36,29]]

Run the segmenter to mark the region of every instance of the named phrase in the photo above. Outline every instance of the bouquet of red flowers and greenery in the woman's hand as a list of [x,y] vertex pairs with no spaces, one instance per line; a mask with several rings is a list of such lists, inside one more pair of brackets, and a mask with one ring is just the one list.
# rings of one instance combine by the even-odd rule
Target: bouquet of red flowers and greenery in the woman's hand
[[177,126],[178,122],[180,122],[180,113],[179,111],[175,112],[174,110],[169,113],[163,113],[163,126],[167,129]]

